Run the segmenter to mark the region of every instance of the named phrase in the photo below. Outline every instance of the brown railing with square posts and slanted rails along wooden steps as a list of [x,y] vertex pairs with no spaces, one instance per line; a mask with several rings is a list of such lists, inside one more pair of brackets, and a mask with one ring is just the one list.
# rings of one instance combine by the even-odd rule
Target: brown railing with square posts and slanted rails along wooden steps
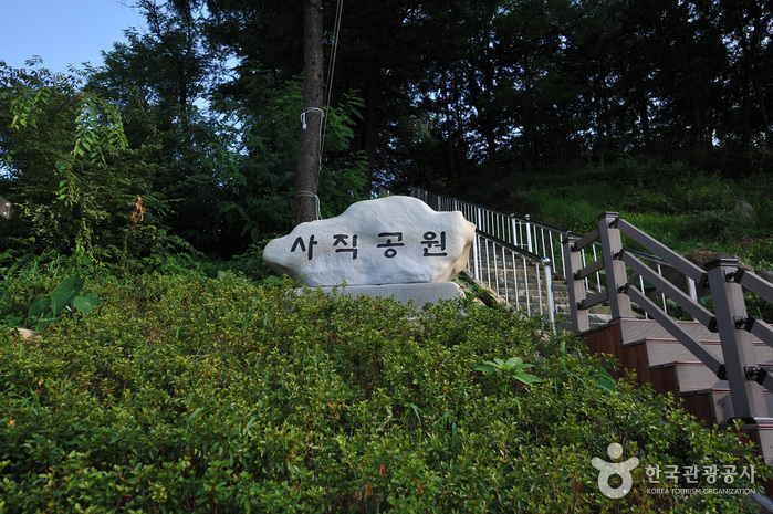
[[[693,286],[699,284],[701,289],[710,290],[714,312],[676,286],[673,281],[658,274],[636,253],[625,250],[621,244],[623,234],[658,255],[673,270],[688,277]],[[602,259],[583,264],[582,249],[597,240],[600,240],[603,246]],[[583,238],[567,238],[563,246],[565,269],[571,276],[568,294],[571,321],[575,332],[589,329],[588,308],[593,305],[608,302],[613,318],[630,318],[635,304],[656,319],[719,379],[728,380],[735,418],[769,418],[762,386],[773,391],[773,376],[759,366],[752,335],[773,347],[773,329],[748,314],[744,292],[773,304],[773,284],[752,272],[741,270],[737,259],[718,259],[708,263],[706,269],[701,269],[619,218],[616,212],[602,214],[597,229]],[[588,296],[585,277],[600,270],[605,271],[607,287],[602,293]],[[685,331],[647,295],[644,287],[637,286],[636,283],[641,280],[652,284],[659,294],[689,313],[708,331],[718,333],[724,361],[720,361],[698,338]]]

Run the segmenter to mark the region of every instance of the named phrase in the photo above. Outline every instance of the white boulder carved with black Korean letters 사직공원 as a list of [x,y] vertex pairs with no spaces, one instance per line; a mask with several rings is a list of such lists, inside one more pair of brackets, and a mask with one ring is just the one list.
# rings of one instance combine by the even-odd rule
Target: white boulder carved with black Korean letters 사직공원
[[263,260],[306,285],[446,282],[467,265],[476,225],[411,197],[349,206],[269,242]]

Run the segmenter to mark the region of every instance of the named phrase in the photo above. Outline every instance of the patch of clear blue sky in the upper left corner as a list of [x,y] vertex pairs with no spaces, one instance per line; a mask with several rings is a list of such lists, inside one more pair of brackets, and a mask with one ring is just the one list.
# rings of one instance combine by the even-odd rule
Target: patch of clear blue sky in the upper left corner
[[102,50],[126,41],[124,30],[142,27],[132,0],[0,0],[0,61],[25,67],[33,55],[43,66],[66,72],[84,61],[103,64]]

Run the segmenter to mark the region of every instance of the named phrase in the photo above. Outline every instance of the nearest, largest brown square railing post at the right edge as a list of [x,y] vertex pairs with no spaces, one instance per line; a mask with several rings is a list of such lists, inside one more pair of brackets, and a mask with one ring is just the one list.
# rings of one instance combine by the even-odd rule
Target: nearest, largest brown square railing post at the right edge
[[[752,335],[743,327],[748,321],[737,259],[718,259],[706,265],[714,303],[724,371],[735,418],[767,418],[767,405],[760,384],[766,371],[758,367]],[[723,378],[720,376],[720,378]],[[760,384],[755,384],[755,380]]]

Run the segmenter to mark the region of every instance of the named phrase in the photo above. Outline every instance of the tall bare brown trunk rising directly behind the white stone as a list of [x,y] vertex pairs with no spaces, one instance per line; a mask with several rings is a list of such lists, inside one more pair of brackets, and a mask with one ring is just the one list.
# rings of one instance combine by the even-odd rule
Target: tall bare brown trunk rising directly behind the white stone
[[303,114],[295,170],[295,224],[316,220],[324,102],[322,0],[303,3]]

